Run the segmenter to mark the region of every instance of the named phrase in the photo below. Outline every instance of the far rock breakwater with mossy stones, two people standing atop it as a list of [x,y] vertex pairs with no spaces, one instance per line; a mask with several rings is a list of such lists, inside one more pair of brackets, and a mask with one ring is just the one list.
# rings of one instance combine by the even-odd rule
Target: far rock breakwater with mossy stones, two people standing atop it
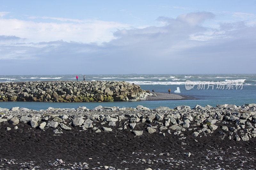
[[152,96],[139,85],[117,81],[35,81],[0,83],[0,101],[138,101]]

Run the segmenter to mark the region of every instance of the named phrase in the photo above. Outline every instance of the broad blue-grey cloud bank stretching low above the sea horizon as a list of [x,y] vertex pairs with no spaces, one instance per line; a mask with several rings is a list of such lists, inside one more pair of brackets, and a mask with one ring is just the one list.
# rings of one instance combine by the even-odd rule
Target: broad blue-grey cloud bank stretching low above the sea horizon
[[119,29],[100,44],[63,40],[1,44],[0,70],[2,74],[256,73],[256,26],[243,21],[203,26],[214,16],[194,12],[159,17],[163,26]]

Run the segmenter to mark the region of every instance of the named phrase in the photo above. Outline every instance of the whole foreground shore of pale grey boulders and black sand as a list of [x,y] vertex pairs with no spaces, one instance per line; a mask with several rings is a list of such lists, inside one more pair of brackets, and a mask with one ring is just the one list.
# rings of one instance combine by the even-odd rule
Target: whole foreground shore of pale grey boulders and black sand
[[256,104],[0,108],[0,169],[255,169]]

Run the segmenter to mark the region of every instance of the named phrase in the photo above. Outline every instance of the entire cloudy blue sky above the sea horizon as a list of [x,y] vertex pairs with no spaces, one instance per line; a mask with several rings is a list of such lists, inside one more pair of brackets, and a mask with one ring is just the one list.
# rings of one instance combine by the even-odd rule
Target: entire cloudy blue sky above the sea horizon
[[0,75],[256,73],[256,0],[2,1]]

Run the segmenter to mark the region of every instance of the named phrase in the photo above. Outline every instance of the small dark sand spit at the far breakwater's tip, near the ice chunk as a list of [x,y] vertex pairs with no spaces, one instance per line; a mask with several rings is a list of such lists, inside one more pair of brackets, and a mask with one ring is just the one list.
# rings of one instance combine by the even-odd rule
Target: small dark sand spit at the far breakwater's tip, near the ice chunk
[[161,93],[161,92],[153,92],[156,96],[148,96],[146,100],[196,100],[195,97],[185,96],[181,94],[169,94],[169,93]]

